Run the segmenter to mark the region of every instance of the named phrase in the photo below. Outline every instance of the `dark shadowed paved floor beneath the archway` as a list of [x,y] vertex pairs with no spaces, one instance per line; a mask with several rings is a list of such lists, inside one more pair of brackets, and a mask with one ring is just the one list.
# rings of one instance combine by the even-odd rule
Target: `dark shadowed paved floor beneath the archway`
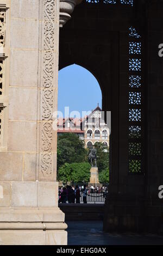
[[101,221],[68,221],[68,245],[163,245],[154,234],[104,233]]

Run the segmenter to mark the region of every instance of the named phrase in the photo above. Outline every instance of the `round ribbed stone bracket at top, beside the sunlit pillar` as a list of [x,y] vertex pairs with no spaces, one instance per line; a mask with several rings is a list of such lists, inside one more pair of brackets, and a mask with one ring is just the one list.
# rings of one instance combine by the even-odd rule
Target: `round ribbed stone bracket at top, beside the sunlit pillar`
[[82,3],[83,0],[60,0],[60,18],[59,26],[62,28],[68,20],[71,19],[71,14],[77,4]]

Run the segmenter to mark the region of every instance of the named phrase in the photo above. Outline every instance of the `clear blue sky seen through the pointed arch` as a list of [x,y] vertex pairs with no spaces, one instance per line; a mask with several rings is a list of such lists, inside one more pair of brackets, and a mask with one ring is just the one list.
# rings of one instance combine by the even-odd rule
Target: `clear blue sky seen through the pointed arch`
[[59,71],[58,111],[91,111],[102,105],[102,93],[96,78],[82,66],[71,65]]

